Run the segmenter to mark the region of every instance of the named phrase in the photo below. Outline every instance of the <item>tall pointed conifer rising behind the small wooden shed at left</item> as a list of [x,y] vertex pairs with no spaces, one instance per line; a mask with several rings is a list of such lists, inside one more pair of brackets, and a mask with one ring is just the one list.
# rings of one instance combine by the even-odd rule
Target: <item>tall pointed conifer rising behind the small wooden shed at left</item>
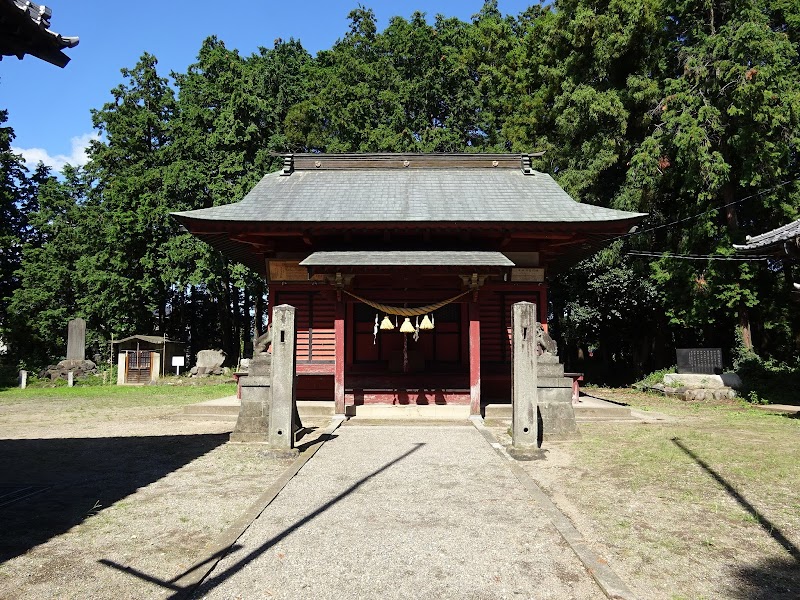
[[95,252],[84,261],[86,309],[109,333],[165,332],[169,318],[172,282],[162,267],[177,233],[167,187],[175,98],[156,65],[145,53],[122,69],[113,101],[92,111],[103,137],[92,142],[86,167],[98,226]]

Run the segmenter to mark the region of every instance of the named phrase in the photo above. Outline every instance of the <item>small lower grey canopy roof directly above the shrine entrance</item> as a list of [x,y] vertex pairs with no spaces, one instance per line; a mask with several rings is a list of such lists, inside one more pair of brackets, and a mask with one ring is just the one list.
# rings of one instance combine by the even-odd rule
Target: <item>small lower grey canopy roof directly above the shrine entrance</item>
[[501,252],[475,251],[344,251],[314,252],[300,263],[304,267],[358,267],[358,266],[401,266],[401,267],[513,267]]

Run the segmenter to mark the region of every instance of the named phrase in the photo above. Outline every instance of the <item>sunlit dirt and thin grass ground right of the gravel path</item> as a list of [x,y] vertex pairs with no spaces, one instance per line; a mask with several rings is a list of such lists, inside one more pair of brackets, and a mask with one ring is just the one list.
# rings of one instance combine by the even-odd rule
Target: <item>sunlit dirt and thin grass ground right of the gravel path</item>
[[582,423],[520,464],[640,598],[800,598],[800,420],[590,393],[675,418]]

